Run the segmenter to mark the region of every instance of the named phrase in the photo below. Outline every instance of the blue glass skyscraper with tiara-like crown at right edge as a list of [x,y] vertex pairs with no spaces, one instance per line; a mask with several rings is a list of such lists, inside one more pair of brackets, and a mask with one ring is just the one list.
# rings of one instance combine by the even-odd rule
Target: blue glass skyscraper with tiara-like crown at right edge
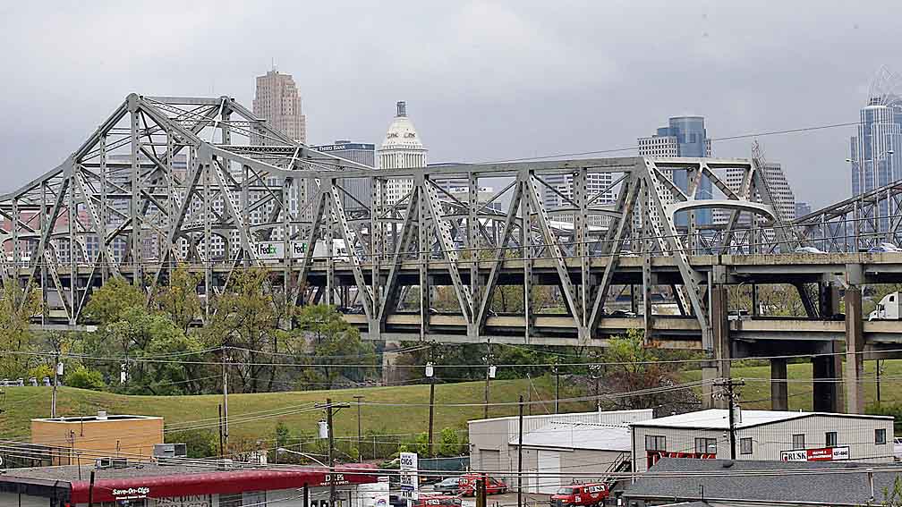
[[[858,132],[851,137],[851,193],[866,194],[902,180],[902,76],[879,69],[868,90],[868,103],[861,109]],[[880,229],[886,217],[896,214],[887,201],[879,205]]]

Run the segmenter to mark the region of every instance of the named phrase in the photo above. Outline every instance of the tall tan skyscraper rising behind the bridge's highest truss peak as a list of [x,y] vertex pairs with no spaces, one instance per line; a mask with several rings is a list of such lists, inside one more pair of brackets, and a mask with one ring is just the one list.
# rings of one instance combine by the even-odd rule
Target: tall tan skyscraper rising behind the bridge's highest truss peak
[[[291,139],[307,143],[307,118],[300,107],[298,86],[290,74],[280,74],[272,69],[264,76],[257,76],[253,115],[266,119],[273,128]],[[263,139],[253,135],[251,143],[262,144]]]

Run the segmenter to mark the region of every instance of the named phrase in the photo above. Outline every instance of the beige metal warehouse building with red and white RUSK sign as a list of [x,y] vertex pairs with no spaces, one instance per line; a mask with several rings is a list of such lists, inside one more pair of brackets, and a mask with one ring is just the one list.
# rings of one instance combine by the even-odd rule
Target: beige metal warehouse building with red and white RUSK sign
[[[712,409],[632,423],[636,471],[662,457],[729,459],[729,415]],[[893,461],[891,417],[736,409],[735,419],[736,459]]]

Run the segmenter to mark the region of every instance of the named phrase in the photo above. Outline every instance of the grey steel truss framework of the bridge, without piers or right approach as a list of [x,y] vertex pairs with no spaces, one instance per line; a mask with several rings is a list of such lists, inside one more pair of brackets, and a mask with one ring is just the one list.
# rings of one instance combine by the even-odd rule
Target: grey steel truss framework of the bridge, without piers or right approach
[[[725,168],[747,171],[739,192],[717,176]],[[296,143],[230,97],[131,95],[67,161],[0,196],[2,274],[39,287],[43,317],[69,324],[108,277],[152,294],[185,265],[202,274],[207,304],[236,269],[257,266],[300,304],[359,309],[376,338],[412,326],[427,339],[453,314],[469,339],[482,340],[495,332],[498,291],[511,286],[522,290],[526,343],[542,332],[538,319],[557,311],[572,318],[575,343],[591,344],[612,287],[625,284],[642,288],[649,335],[658,285],[673,287],[704,329],[706,281],[693,256],[746,248],[756,227],[782,229],[756,168],[626,157],[373,171]],[[667,171],[686,171],[688,187]],[[723,198],[698,198],[703,178]],[[367,183],[365,194],[352,179]],[[488,179],[510,182],[490,191],[480,187]],[[412,180],[412,190],[387,202],[390,180]],[[731,217],[730,230],[675,222],[680,211],[712,207],[764,222]],[[621,274],[624,255],[642,258],[640,280]],[[659,256],[673,257],[678,272],[658,275]],[[544,306],[538,287],[553,291]],[[411,288],[416,300],[405,297]],[[437,300],[453,303],[435,309]]]

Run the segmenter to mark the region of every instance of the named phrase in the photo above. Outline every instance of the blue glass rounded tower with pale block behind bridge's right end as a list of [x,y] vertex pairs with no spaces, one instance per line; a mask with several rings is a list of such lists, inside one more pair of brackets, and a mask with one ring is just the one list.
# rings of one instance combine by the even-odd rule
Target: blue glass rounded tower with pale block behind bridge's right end
[[[704,129],[704,117],[702,116],[674,116],[667,122],[666,127],[658,128],[658,133],[651,137],[640,137],[640,156],[649,157],[710,157],[711,139]],[[686,171],[664,171],[665,176],[673,180],[680,189],[688,189]],[[667,191],[663,192],[665,195]],[[697,198],[712,198],[711,180],[702,177],[698,185]],[[695,212],[695,221],[699,225],[712,223],[711,210],[699,209]],[[686,226],[688,217],[686,213],[676,216],[677,226]]]

